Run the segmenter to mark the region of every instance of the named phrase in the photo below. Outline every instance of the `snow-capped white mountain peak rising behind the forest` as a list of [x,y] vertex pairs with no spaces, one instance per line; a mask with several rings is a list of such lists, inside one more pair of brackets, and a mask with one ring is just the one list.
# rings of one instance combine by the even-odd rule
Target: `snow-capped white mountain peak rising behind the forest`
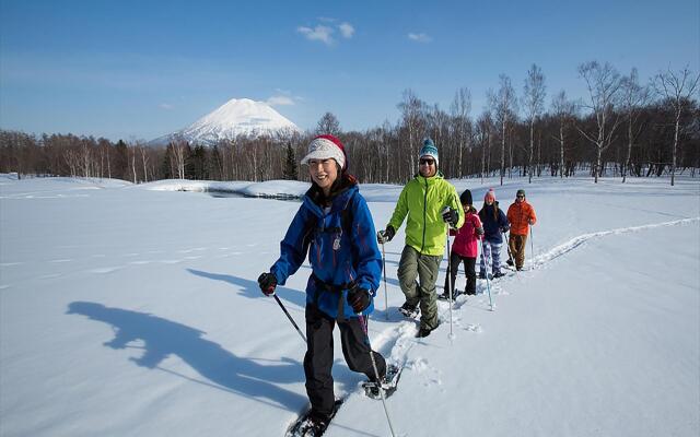
[[264,102],[232,98],[189,127],[156,138],[150,144],[164,145],[172,140],[184,139],[190,143],[212,145],[219,140],[233,139],[238,134],[259,135],[280,130],[301,131],[296,125]]

